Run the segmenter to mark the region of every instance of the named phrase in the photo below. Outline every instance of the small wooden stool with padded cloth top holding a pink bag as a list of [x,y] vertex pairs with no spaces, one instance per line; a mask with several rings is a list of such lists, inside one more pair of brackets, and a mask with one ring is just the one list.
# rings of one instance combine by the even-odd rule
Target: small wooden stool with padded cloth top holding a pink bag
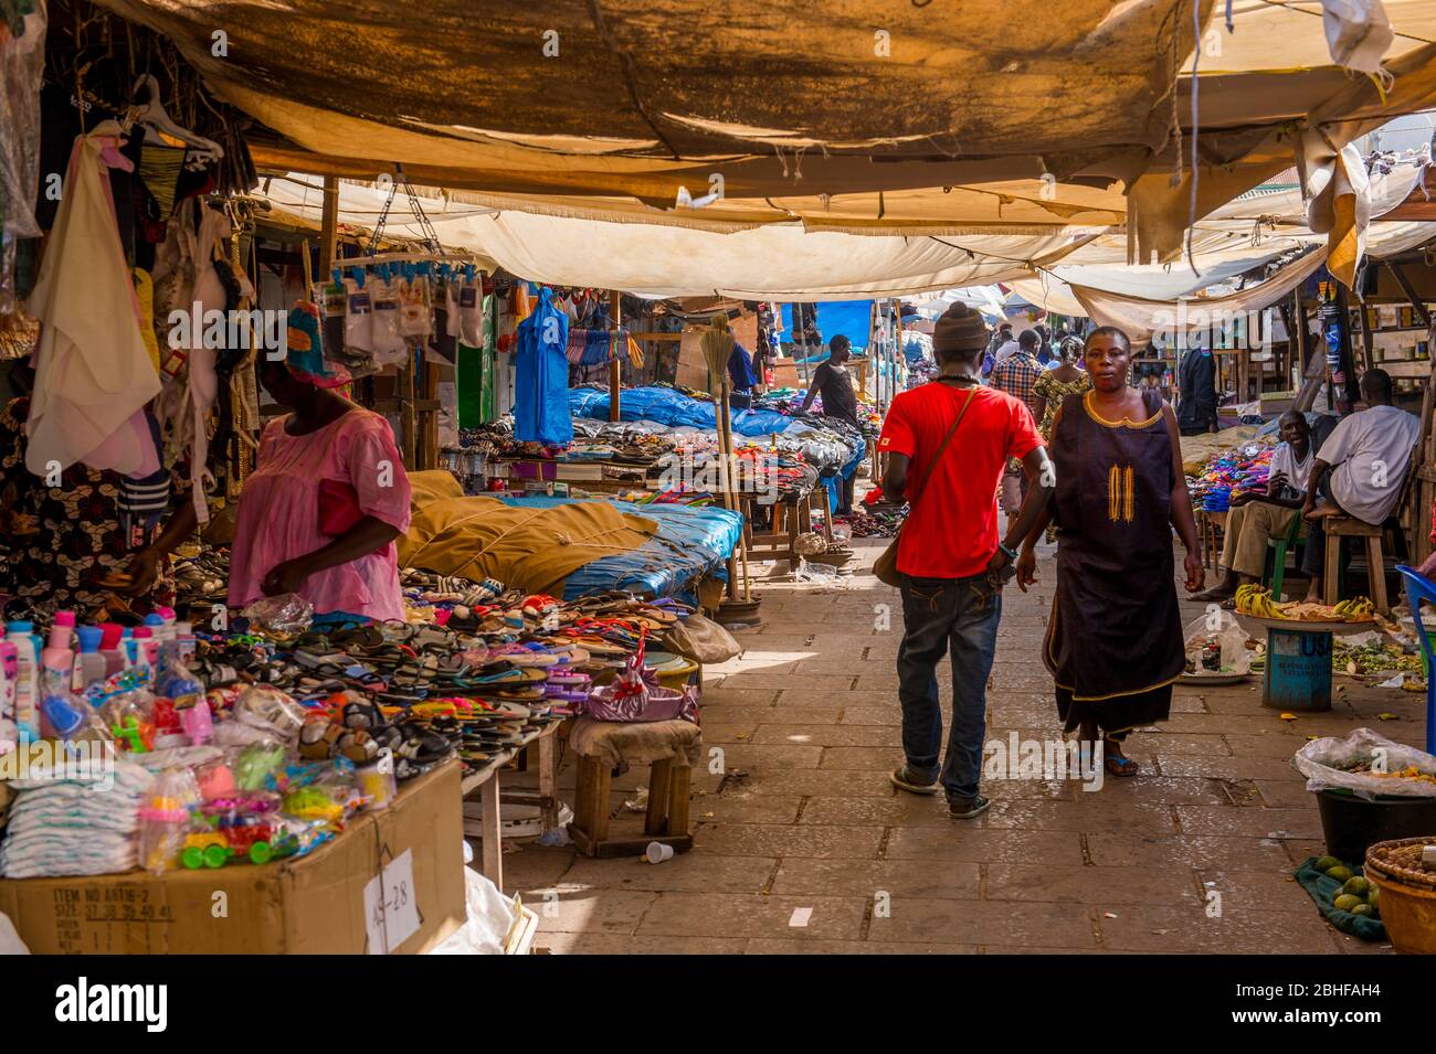
[[[701,741],[702,733],[691,721],[574,721],[569,746],[579,757],[579,783],[569,835],[579,852],[638,856],[649,842],[662,842],[679,853],[692,849],[688,804]],[[651,766],[643,837],[609,837],[609,794],[620,761]]]

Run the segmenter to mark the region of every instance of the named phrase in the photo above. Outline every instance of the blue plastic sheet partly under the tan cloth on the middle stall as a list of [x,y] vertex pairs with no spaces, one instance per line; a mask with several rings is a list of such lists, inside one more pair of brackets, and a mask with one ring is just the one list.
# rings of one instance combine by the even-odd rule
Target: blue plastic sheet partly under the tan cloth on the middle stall
[[[626,393],[625,393],[626,394]],[[504,498],[505,505],[551,509],[602,498]],[[635,505],[607,502],[619,512],[658,522],[658,538],[632,552],[603,556],[569,575],[563,599],[623,589],[653,597],[681,595],[684,587],[705,574],[727,581],[728,554],[742,536],[742,515],[715,506]]]

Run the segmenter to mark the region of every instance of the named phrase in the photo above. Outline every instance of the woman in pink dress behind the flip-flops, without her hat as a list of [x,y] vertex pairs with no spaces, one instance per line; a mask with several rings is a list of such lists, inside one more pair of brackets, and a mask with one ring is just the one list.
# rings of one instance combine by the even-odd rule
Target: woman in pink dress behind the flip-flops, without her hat
[[389,423],[281,361],[258,369],[290,413],[266,426],[240,495],[230,607],[297,592],[316,614],[402,621],[409,478]]

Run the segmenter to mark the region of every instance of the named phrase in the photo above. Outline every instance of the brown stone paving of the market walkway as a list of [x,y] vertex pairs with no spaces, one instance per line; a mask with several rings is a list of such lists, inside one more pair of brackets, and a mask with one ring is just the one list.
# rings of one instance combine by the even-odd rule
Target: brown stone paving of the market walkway
[[[896,792],[903,760],[895,657],[902,607],[866,568],[846,588],[761,584],[745,654],[708,667],[695,770],[695,848],[669,862],[595,860],[524,843],[507,892],[540,913],[537,949],[560,952],[1383,952],[1330,928],[1291,879],[1324,852],[1291,754],[1363,724],[1420,744],[1425,697],[1344,681],[1328,714],[1284,721],[1255,684],[1179,685],[1172,720],[1134,733],[1143,771],[987,780],[992,807],[952,820],[941,796]],[[988,691],[988,740],[1053,739],[1038,645],[1054,566],[1010,585]],[[890,625],[880,615],[887,605]],[[1200,614],[1183,604],[1185,619]],[[948,680],[939,674],[939,683]],[[1344,678],[1338,678],[1341,685]],[[943,685],[945,707],[951,684]],[[1377,714],[1393,714],[1377,720]],[[712,756],[714,749],[721,756]],[[615,832],[646,769],[615,779]],[[560,786],[572,802],[573,764]],[[1211,892],[1221,895],[1213,916]]]

